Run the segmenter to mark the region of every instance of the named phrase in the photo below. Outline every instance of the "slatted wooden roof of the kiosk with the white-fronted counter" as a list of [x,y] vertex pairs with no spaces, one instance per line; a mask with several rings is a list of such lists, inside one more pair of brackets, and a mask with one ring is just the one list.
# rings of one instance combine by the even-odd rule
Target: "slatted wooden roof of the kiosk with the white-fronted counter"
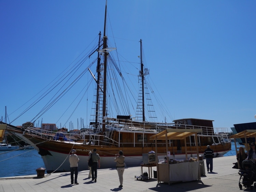
[[202,129],[165,129],[150,137],[150,140],[184,139],[195,133],[202,132]]

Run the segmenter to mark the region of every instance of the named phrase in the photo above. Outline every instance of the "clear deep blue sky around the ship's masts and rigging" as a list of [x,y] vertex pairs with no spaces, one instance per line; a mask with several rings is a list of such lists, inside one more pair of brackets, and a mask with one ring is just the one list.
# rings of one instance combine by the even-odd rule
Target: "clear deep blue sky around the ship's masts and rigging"
[[[230,128],[256,121],[255,8],[254,0],[109,0],[108,30],[130,62],[138,62],[142,39],[144,64],[168,108],[168,122],[210,119],[214,127]],[[104,10],[105,0],[0,0],[1,117],[6,106],[13,121],[97,38]],[[88,106],[70,120],[88,121]],[[12,124],[30,121],[38,110]],[[58,112],[43,115],[43,123],[56,123]]]

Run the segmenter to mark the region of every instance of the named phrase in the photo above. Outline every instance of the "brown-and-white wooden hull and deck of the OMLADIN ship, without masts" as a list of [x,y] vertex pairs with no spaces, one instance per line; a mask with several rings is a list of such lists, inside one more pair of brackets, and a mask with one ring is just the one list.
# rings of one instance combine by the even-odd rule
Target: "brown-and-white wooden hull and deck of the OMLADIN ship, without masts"
[[[185,119],[184,119],[185,120]],[[187,119],[191,120],[191,119]],[[195,120],[195,119],[193,119]],[[211,120],[196,119],[197,122],[212,122]],[[113,121],[113,120],[112,120]],[[120,119],[115,119],[115,124]],[[131,123],[131,122],[130,122]],[[94,148],[97,149],[97,153],[101,157],[101,168],[113,168],[115,163],[113,158],[117,151],[123,150],[125,152],[126,166],[139,166],[142,163],[142,154],[148,153],[155,149],[155,142],[150,141],[150,136],[160,132],[163,129],[163,124],[151,124],[152,127],[158,127],[157,129],[149,128],[149,124],[142,128],[133,127],[126,120],[126,126],[115,127],[109,126],[109,130],[103,134],[85,135],[81,134],[68,134],[62,133],[61,137],[57,137],[57,133],[42,134],[40,130],[34,128],[27,128],[26,130],[18,130],[11,125],[7,125],[8,131],[12,131],[19,137],[26,139],[26,141],[34,145],[35,149],[39,151],[44,161],[47,173],[53,171],[62,172],[69,171],[69,162],[67,160],[70,151],[75,149],[76,154],[80,157],[81,162],[79,170],[87,169],[88,152]],[[161,127],[160,127],[161,126]],[[167,125],[165,125],[167,126]],[[212,127],[203,127],[198,125],[185,125],[169,123],[167,129],[202,129],[203,132],[198,134],[199,155],[203,155],[207,145],[211,145],[214,150],[214,156],[223,156],[231,149],[229,142],[221,142],[223,137],[214,134],[217,129]],[[205,134],[208,132],[208,134]],[[212,132],[210,134],[210,132]],[[76,138],[75,140],[73,138]],[[187,150],[195,151],[195,136],[190,136],[187,141]],[[164,153],[166,145],[164,142],[157,141],[158,152]],[[169,141],[168,149],[170,151],[170,159],[185,159],[185,143],[180,140]],[[196,157],[195,153],[190,153],[189,157]],[[163,159],[164,156],[159,156],[158,159]]]

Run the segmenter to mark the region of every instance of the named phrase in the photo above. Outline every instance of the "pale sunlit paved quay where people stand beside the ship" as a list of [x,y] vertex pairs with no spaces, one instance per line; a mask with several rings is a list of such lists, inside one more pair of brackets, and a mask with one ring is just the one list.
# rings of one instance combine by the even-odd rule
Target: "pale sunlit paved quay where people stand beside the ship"
[[[235,156],[219,157],[213,159],[213,172],[207,173],[206,163],[205,175],[201,176],[201,180],[190,182],[177,182],[168,185],[168,183],[157,183],[157,179],[137,180],[134,176],[141,175],[141,167],[128,167],[124,172],[123,188],[119,188],[119,179],[116,169],[98,169],[97,182],[91,181],[88,178],[89,171],[81,171],[78,173],[78,185],[71,185],[70,173],[53,173],[51,175],[45,174],[43,178],[37,178],[37,175],[19,176],[0,178],[0,191],[3,192],[52,192],[52,191],[123,191],[123,192],[236,192],[236,191],[250,191],[250,188],[239,189],[238,182],[240,175],[238,169],[233,169],[233,162],[236,161]],[[143,172],[147,171],[147,167],[143,167]],[[2,175],[3,176],[3,175]]]

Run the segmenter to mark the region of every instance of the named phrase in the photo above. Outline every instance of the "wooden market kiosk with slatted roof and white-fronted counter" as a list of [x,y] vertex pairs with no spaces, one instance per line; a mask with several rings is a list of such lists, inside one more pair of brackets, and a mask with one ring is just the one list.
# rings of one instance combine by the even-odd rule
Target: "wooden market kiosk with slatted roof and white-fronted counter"
[[[166,182],[168,184],[179,181],[193,181],[201,179],[199,166],[199,152],[197,133],[202,132],[201,129],[166,129],[150,137],[150,140],[155,140],[156,146],[156,166],[157,166],[157,182]],[[184,139],[185,144],[188,136],[195,135],[196,151],[188,151],[185,145],[186,160],[187,153],[196,153],[197,161],[182,162],[169,164],[168,157],[168,140]],[[157,153],[157,140],[166,141],[166,153]],[[167,157],[167,163],[158,163],[158,155]]]

